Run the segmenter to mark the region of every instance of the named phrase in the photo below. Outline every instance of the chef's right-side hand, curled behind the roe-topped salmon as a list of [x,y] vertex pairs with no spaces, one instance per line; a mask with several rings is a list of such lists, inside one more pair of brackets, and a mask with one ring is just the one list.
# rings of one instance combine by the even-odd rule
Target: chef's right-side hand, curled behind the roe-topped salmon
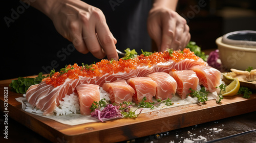
[[186,20],[176,10],[177,0],[155,0],[148,13],[147,31],[158,51],[184,49],[190,40]]

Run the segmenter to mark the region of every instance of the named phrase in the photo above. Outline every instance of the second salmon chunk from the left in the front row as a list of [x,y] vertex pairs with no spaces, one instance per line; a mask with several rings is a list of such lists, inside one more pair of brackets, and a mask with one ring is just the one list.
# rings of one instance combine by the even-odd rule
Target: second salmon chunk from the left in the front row
[[116,104],[132,101],[135,93],[133,87],[127,84],[125,80],[103,83],[102,88],[109,93],[111,103]]

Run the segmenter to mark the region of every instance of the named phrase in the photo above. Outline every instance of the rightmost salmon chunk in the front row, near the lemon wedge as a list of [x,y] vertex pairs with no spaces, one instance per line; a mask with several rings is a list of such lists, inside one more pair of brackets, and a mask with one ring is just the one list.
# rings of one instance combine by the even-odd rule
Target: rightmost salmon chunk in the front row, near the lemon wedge
[[221,72],[211,66],[196,65],[190,68],[195,71],[199,78],[199,84],[203,85],[210,92],[217,90],[220,85]]

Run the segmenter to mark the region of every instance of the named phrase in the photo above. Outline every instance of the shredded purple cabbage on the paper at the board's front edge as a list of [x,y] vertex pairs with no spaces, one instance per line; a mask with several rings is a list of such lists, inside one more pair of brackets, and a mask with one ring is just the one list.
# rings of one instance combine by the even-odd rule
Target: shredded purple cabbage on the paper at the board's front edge
[[102,111],[95,109],[91,113],[92,117],[98,118],[101,122],[105,118],[117,118],[122,117],[121,111],[118,110],[117,106],[113,106],[112,104],[108,104]]

